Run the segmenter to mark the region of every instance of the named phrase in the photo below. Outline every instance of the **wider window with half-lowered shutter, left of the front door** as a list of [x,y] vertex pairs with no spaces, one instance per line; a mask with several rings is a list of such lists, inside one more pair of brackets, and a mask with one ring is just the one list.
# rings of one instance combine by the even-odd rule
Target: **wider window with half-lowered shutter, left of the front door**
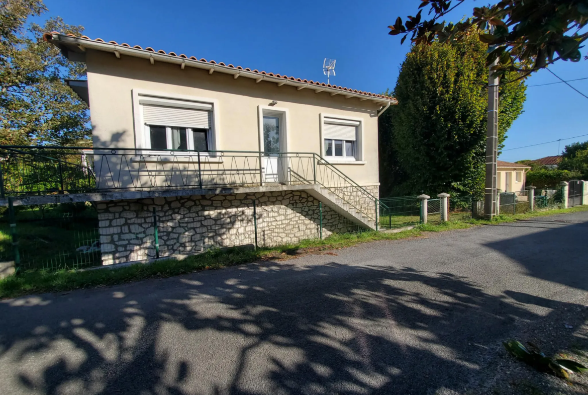
[[151,150],[212,151],[212,105],[140,98],[145,145]]

